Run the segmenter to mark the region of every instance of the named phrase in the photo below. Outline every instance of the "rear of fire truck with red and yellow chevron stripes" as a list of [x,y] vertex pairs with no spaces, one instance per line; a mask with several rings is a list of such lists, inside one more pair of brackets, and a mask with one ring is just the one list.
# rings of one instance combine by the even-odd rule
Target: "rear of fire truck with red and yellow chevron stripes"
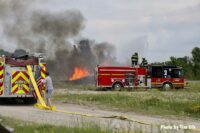
[[[6,57],[0,55],[0,98],[15,98],[35,101],[36,95],[26,69],[31,65],[37,84],[45,89],[41,80],[46,76],[46,63],[42,54]],[[42,92],[41,92],[42,93]]]

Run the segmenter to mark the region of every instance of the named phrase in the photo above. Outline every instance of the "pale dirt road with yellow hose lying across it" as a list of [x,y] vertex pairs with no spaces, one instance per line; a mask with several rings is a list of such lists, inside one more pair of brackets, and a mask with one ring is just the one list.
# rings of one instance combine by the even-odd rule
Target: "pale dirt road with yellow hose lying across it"
[[[33,105],[0,105],[0,115],[11,117],[23,121],[36,122],[41,124],[63,125],[63,126],[84,126],[86,123],[96,123],[103,128],[111,128],[119,132],[134,131],[136,129],[143,132],[184,132],[183,130],[166,129],[172,126],[179,128],[200,129],[200,121],[191,118],[164,118],[161,116],[146,116],[133,112],[116,112],[100,110],[96,107],[87,107],[74,104],[53,103],[57,109],[82,114],[93,114],[96,116],[127,116],[131,122],[114,118],[83,117],[49,110],[34,108]],[[142,122],[142,123],[140,123]],[[144,124],[145,123],[145,124]],[[146,125],[150,124],[150,125]],[[187,126],[187,127],[186,127]],[[161,129],[162,128],[162,129]]]

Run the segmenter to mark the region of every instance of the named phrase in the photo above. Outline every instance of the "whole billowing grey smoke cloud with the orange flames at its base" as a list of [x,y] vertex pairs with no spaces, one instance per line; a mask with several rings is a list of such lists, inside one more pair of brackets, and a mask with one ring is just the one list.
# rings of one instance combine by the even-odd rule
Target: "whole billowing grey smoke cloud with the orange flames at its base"
[[0,0],[0,35],[8,43],[4,49],[45,53],[48,69],[58,80],[77,80],[92,75],[97,64],[116,63],[109,43],[72,43],[85,26],[80,11],[51,12],[34,6],[30,0]]

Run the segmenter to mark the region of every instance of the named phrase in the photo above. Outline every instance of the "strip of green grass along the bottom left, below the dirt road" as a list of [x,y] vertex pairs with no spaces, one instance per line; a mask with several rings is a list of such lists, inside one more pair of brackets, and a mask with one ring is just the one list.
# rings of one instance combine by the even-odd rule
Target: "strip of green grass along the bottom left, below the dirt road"
[[66,127],[48,124],[37,124],[20,121],[8,117],[3,119],[3,125],[14,128],[14,133],[112,133],[110,129],[101,129],[93,123],[84,123],[83,126]]

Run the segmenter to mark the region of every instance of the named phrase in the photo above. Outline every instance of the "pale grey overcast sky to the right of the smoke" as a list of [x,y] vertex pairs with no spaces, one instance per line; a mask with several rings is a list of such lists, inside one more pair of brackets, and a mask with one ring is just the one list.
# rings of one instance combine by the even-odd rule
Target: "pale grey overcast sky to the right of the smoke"
[[82,36],[115,45],[119,61],[136,51],[149,62],[166,61],[200,47],[200,0],[45,0],[37,6],[80,10]]

